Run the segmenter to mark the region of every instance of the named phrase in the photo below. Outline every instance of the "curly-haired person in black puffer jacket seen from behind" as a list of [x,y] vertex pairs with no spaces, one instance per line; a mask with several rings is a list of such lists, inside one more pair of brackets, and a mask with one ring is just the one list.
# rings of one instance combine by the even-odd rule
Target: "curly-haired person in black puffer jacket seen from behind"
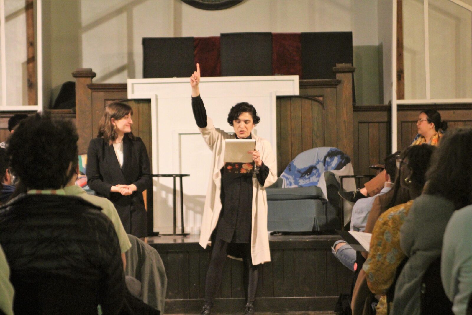
[[126,284],[118,238],[99,207],[65,196],[78,136],[70,121],[36,114],[8,140],[17,192],[0,208],[0,244],[15,314],[118,314]]

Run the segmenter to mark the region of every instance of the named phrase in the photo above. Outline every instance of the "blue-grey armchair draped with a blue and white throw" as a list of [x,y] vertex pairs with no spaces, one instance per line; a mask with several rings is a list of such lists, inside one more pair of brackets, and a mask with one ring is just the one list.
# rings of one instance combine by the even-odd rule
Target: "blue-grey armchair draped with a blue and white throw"
[[[298,154],[266,189],[268,230],[310,232],[341,228],[339,182],[352,173],[351,159],[337,148],[313,148]],[[336,175],[335,175],[336,173]]]

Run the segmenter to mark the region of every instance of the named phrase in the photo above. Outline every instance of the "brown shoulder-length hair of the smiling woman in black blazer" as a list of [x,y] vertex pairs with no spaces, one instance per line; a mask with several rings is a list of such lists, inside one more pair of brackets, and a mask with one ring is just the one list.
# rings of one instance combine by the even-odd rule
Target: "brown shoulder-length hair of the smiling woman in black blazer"
[[[105,111],[103,112],[103,116],[101,116],[100,122],[98,124],[98,138],[103,138],[105,143],[111,143],[113,140],[118,138],[118,134],[113,128],[113,124],[111,123],[111,119],[119,120],[125,117],[127,114],[131,114],[133,116],[133,108],[128,104],[123,103],[123,101],[119,102],[112,102],[105,106]],[[125,136],[128,136],[130,139],[133,139],[133,133],[129,132]]]

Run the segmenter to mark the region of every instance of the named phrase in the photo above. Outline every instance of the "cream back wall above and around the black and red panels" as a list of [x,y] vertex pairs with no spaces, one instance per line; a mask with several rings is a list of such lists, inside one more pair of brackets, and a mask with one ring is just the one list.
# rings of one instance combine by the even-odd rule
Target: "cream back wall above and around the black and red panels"
[[53,97],[76,68],[92,68],[97,83],[142,77],[143,37],[352,31],[354,46],[378,45],[376,0],[246,0],[220,11],[180,0],[43,1],[52,4]]

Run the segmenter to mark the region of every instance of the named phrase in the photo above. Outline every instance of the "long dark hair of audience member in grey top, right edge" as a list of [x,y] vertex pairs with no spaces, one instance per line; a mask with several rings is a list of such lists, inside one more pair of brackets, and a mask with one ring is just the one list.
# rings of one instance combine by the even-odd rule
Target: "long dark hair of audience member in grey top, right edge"
[[456,209],[472,204],[472,128],[455,128],[441,138],[426,174],[425,193],[452,201]]

